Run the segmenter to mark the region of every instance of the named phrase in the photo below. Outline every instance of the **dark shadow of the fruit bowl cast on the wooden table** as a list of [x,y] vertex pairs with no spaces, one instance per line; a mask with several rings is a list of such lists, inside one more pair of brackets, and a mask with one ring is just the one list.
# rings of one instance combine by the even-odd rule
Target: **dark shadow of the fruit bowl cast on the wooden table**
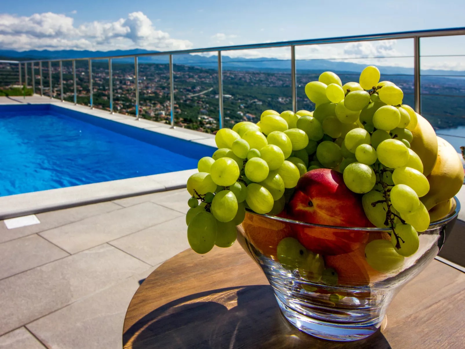
[[269,285],[212,290],[167,303],[129,328],[123,344],[133,349],[391,348],[380,331],[345,343],[300,332],[280,312]]

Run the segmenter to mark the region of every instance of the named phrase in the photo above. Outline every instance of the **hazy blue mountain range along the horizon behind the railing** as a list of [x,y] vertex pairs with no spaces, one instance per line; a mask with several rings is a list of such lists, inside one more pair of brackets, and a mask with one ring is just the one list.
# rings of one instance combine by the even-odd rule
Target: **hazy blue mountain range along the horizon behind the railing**
[[[47,59],[72,59],[72,58],[92,58],[133,54],[146,54],[144,49],[114,50],[114,51],[77,51],[77,50],[31,50],[17,52],[13,50],[0,50],[0,60],[47,60]],[[231,70],[265,70],[265,71],[289,71],[290,60],[279,60],[276,58],[232,58],[222,56],[223,68]],[[122,58],[115,63],[130,63],[133,58]],[[140,63],[168,63],[167,56],[144,56],[139,58]],[[204,57],[195,54],[179,54],[173,57],[174,64],[191,65],[196,67],[216,68],[218,67],[218,57]],[[298,70],[321,71],[332,70],[336,72],[361,72],[366,67],[365,64],[351,62],[340,62],[333,60],[298,60],[296,62]],[[413,74],[413,68],[390,67],[378,65],[382,74]],[[457,70],[422,70],[422,75],[464,75],[464,71]]]

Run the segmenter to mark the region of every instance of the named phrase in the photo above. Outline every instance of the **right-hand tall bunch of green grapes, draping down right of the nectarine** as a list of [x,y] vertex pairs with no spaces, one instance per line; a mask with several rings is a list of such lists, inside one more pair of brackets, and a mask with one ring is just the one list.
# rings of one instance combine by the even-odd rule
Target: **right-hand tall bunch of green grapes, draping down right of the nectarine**
[[419,156],[410,149],[417,114],[402,104],[402,89],[379,80],[374,66],[362,71],[359,83],[345,85],[325,72],[305,90],[317,106],[312,117],[324,133],[316,140],[308,170],[326,167],[343,173],[346,186],[364,194],[363,208],[372,224],[392,229],[391,242],[373,241],[365,248],[367,262],[386,272],[402,266],[404,257],[419,248],[418,232],[430,223],[419,198],[428,193],[429,183]]

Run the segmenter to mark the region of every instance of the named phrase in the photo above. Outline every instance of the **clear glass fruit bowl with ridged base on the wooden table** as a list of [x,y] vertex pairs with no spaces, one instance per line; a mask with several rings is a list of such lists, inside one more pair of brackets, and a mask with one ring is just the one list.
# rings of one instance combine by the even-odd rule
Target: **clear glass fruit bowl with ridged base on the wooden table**
[[[387,228],[309,224],[283,218],[285,215],[260,215],[247,210],[244,221],[237,226],[238,241],[263,269],[279,308],[294,326],[319,338],[354,341],[379,329],[400,288],[438,254],[459,210],[455,198],[445,218],[419,233],[416,253],[409,257],[387,256],[385,261],[389,263],[382,265],[376,259],[368,263],[365,248],[378,241],[375,245],[380,245],[379,255],[383,252],[382,241],[391,245],[391,230]],[[319,236],[315,251],[297,242],[303,234],[312,235],[313,231]],[[351,250],[341,250],[339,239],[350,241]]]

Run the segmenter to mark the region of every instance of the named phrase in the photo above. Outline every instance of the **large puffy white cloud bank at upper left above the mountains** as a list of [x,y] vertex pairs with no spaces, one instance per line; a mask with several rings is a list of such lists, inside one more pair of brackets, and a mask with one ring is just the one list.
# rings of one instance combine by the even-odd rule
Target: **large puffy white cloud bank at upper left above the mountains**
[[94,21],[79,27],[73,18],[59,13],[35,13],[30,17],[0,14],[0,48],[18,51],[30,49],[183,50],[192,47],[188,40],[170,38],[156,30],[142,12],[129,13],[113,22]]

